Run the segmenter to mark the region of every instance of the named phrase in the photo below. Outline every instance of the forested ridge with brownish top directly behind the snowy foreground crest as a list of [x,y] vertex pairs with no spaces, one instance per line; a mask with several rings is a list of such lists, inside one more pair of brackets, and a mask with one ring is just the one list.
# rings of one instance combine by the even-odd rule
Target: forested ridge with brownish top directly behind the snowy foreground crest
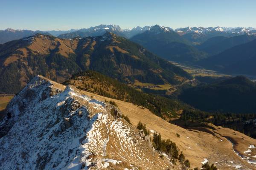
[[163,118],[175,117],[177,116],[177,111],[183,110],[184,108],[189,109],[182,102],[163,96],[145,94],[96,71],[88,70],[75,74],[68,81],[64,82],[64,84],[74,85],[81,90],[89,91],[93,94],[143,106]]

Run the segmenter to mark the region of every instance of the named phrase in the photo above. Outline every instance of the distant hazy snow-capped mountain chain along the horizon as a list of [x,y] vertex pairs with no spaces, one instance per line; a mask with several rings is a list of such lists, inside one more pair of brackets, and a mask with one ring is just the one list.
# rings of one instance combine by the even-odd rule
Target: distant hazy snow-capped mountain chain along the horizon
[[[74,38],[74,37],[88,37],[99,36],[105,34],[105,31],[111,31],[114,34],[123,36],[125,38],[131,38],[137,34],[148,31],[152,26],[137,26],[132,29],[122,29],[117,25],[99,25],[90,28],[82,29],[70,29],[68,31],[51,30],[51,31],[31,31],[31,30],[14,30],[8,28],[6,30],[0,30],[0,44],[20,38],[32,36],[36,33],[48,33],[60,38]],[[235,36],[241,34],[256,34],[256,28],[225,28],[225,27],[186,27],[172,29],[166,27],[169,30],[173,30],[178,34],[184,36],[187,40],[193,43],[202,43],[205,40],[215,36]]]

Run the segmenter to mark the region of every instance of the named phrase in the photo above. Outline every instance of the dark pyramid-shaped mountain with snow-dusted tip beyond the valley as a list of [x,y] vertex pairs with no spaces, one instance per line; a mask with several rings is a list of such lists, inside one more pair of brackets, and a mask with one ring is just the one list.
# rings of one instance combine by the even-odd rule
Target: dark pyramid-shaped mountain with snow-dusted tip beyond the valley
[[130,40],[171,61],[196,62],[207,57],[206,53],[192,46],[192,42],[163,26],[155,25]]

